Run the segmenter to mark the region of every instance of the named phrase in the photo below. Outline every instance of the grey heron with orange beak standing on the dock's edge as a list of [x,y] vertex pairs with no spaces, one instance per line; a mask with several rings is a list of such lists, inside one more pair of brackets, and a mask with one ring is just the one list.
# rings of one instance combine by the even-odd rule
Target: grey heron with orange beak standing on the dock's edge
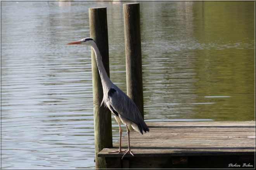
[[[128,97],[122,90],[120,90],[116,85],[114,85],[114,83],[111,82],[103,66],[99,48],[97,47],[96,42],[92,38],[84,38],[78,41],[70,42],[68,44],[89,45],[92,47],[95,53],[96,62],[97,62],[97,66],[99,69],[100,78],[102,82],[103,94],[104,94],[101,105],[104,104],[109,108],[109,110],[111,110],[119,126],[119,150],[109,152],[109,153],[125,153],[123,157],[127,153],[130,153],[131,155],[133,155],[130,149],[130,130],[128,128],[128,125],[131,125],[131,127],[140,134],[143,134],[143,131],[145,133],[149,131],[149,128],[147,127],[147,124],[144,122],[140,114],[140,111],[138,110],[138,107],[130,99],[130,97]],[[127,129],[127,134],[128,134],[128,150],[127,151],[121,150],[121,138],[122,138],[121,122],[125,124]]]

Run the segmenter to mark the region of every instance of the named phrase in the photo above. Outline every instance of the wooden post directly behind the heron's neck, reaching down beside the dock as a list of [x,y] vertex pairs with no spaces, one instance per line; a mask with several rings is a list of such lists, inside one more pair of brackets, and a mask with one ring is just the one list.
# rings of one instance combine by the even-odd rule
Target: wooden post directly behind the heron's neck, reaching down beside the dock
[[[102,56],[103,65],[109,76],[109,45],[107,34],[107,8],[89,8],[90,37],[95,40]],[[93,116],[95,132],[96,168],[106,168],[105,158],[98,157],[103,148],[112,148],[111,112],[101,106],[103,89],[99,70],[92,49]]]

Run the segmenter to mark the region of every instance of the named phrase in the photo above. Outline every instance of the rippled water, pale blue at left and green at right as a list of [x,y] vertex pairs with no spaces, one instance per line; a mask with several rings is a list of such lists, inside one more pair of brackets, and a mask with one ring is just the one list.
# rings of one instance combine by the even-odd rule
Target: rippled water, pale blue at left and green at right
[[[123,2],[2,2],[2,168],[94,168],[88,8],[107,7],[126,92]],[[254,120],[254,2],[140,2],[145,120]],[[113,141],[118,126],[112,119]]]

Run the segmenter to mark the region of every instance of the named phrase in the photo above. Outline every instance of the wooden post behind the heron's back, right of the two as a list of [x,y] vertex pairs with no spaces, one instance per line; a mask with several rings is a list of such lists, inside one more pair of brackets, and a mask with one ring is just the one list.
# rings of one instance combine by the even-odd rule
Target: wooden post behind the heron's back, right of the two
[[142,86],[142,54],[140,42],[140,3],[123,5],[125,24],[125,56],[127,95],[144,118]]

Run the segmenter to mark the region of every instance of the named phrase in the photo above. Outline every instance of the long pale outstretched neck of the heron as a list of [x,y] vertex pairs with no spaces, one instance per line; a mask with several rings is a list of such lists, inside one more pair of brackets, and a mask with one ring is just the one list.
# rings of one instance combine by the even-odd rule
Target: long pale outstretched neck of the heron
[[111,88],[112,82],[109,79],[109,76],[107,76],[107,72],[102,63],[100,51],[99,51],[99,48],[97,47],[96,43],[92,44],[92,49],[95,53],[95,58],[96,58],[97,66],[98,66],[99,73],[100,73],[102,88],[103,88],[103,92],[105,93],[105,92],[108,92],[109,89]]

